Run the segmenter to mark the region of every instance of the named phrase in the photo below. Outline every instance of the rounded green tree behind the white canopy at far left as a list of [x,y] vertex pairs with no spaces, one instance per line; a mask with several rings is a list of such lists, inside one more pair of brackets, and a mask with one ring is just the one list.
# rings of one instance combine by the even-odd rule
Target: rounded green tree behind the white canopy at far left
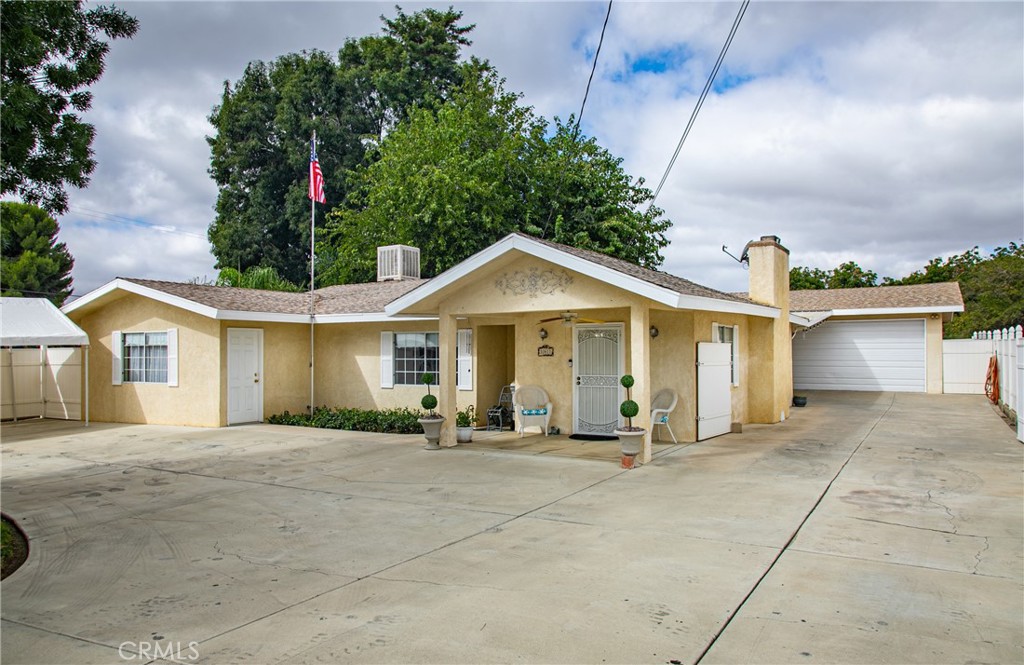
[[58,307],[71,295],[68,246],[60,226],[45,210],[28,203],[0,202],[0,290],[3,295],[49,298]]

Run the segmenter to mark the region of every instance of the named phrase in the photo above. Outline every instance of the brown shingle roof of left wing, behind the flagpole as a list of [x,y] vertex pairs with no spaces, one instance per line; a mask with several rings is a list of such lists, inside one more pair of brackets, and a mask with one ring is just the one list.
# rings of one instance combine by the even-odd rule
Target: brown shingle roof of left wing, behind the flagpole
[[[240,289],[231,286],[186,284],[182,282],[162,282],[159,280],[138,280],[120,278],[126,282],[162,291],[193,302],[231,311],[259,311],[268,314],[309,314],[309,293],[288,293],[284,291],[263,291],[260,289]],[[369,284],[345,284],[316,289],[317,315],[376,314],[383,313],[384,305],[408,293],[426,280],[402,280],[400,282],[371,282]]]

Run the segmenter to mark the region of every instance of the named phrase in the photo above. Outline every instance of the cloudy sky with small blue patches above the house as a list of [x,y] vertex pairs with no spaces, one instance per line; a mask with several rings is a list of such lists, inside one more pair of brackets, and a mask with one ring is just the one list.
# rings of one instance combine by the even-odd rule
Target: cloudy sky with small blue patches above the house
[[[93,87],[98,166],[59,219],[77,294],[118,276],[215,277],[205,137],[224,81],[251,60],[336,52],[379,32],[394,3],[117,4],[140,28],[113,44]],[[579,110],[606,3],[455,6],[476,24],[469,52],[525,103],[549,119]],[[738,8],[612,7],[584,129],[651,188]],[[755,0],[658,198],[674,222],[663,268],[744,290],[721,248],[738,254],[767,234],[794,265],[854,260],[893,277],[975,245],[1020,243],[1022,118],[1021,2]]]

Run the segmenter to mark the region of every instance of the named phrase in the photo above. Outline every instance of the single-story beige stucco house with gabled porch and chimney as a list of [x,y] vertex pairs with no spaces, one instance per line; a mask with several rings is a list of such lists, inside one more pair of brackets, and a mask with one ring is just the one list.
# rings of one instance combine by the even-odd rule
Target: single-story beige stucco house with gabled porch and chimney
[[[641,406],[634,424],[649,430],[653,393],[671,388],[673,429],[695,441],[788,416],[794,331],[910,317],[927,327],[928,358],[933,330],[941,348],[932,314],[945,309],[896,298],[880,300],[876,315],[863,314],[869,304],[803,301],[791,314],[788,250],[766,236],[745,254],[748,296],[512,234],[430,280],[410,269],[417,250],[381,248],[378,282],[317,289],[312,302],[308,293],[119,278],[65,311],[92,340],[93,420],[201,426],[310,404],[417,408],[419,377],[430,371],[442,414],[482,411],[503,386],[535,384],[551,399],[552,426],[610,433],[618,377],[630,373]],[[950,288],[934,295],[926,308],[953,306]],[[454,443],[453,429],[442,443]]]

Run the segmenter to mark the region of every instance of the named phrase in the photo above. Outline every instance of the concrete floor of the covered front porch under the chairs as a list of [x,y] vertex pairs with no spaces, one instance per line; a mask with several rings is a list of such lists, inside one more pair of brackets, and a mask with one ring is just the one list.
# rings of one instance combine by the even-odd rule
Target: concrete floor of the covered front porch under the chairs
[[[673,444],[671,441],[664,442],[654,440],[651,442],[651,457],[667,455],[677,448],[689,446],[690,444]],[[459,444],[459,448],[466,450],[494,451],[522,453],[525,455],[549,455],[553,457],[574,457],[577,459],[590,459],[601,462],[613,462],[617,464],[622,458],[618,441],[578,441],[569,439],[568,434],[553,434],[545,437],[541,433],[530,433],[519,438],[517,431],[497,431],[478,429],[473,431],[473,441],[468,444]],[[639,466],[641,458],[637,456]]]

